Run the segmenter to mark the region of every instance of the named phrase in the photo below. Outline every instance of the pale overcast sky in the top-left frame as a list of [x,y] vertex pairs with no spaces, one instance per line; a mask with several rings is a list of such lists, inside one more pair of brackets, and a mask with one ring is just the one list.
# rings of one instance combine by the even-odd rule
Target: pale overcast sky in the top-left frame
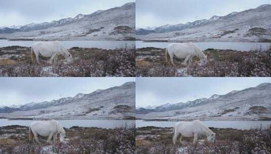
[[135,0],[1,0],[0,26],[42,23],[120,7]]

